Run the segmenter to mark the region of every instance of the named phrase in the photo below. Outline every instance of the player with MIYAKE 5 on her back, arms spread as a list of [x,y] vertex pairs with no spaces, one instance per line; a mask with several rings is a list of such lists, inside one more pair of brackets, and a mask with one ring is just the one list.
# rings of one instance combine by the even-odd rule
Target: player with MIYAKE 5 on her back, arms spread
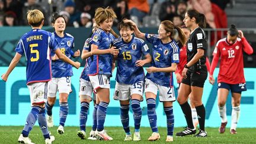
[[[79,68],[79,62],[73,62],[60,52],[57,47],[54,47],[54,40],[52,33],[41,30],[44,23],[43,13],[37,9],[27,12],[28,24],[31,25],[32,30],[25,33],[17,47],[15,48],[16,54],[12,59],[6,73],[1,77],[7,81],[9,74],[20,61],[21,56],[24,54],[27,59],[27,86],[30,91],[31,111],[27,116],[27,120],[23,131],[21,132],[18,142],[32,143],[28,138],[28,134],[36,123],[37,119],[46,143],[52,143],[55,140],[54,136],[50,136],[47,129],[47,121],[45,117],[44,103],[47,98],[47,84],[51,76],[50,67],[50,49],[55,50],[59,59],[70,63],[71,65]],[[50,49],[49,49],[50,48]]]

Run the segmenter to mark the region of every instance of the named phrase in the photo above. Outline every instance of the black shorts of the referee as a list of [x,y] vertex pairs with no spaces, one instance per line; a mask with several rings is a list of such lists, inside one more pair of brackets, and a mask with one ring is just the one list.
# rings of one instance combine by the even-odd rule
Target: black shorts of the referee
[[203,88],[204,82],[206,81],[206,79],[207,79],[207,68],[205,65],[203,65],[199,71],[196,71],[196,72],[187,71],[187,78],[183,77],[183,80],[181,81],[181,83]]

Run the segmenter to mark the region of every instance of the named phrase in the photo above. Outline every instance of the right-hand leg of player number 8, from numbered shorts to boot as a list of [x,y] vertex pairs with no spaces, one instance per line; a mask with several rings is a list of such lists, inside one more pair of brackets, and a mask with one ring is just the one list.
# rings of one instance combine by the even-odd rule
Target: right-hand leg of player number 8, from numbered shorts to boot
[[57,83],[57,88],[59,90],[59,127],[57,129],[57,133],[62,135],[64,133],[64,126],[66,122],[66,117],[69,112],[68,105],[68,96],[71,91],[71,76],[65,76],[59,79]]

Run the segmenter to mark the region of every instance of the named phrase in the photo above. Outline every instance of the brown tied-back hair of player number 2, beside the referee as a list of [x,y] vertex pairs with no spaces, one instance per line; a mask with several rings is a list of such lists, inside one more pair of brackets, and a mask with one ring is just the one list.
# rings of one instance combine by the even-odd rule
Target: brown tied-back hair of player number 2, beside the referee
[[165,27],[165,31],[170,32],[171,33],[171,38],[173,39],[173,36],[175,34],[175,29],[178,31],[178,36],[180,37],[180,41],[181,41],[181,44],[185,44],[185,34],[183,33],[183,31],[181,30],[180,27],[175,27],[174,24],[169,21],[169,20],[165,20],[165,21],[162,21],[161,24],[164,25]]

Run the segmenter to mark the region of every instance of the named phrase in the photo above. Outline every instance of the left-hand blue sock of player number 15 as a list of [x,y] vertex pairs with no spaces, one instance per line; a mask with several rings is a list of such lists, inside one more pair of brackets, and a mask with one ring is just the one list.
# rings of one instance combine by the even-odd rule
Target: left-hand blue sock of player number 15
[[126,135],[130,134],[130,127],[129,127],[129,106],[127,105],[120,105],[120,117],[121,117],[121,123],[123,124],[124,132],[126,132]]

